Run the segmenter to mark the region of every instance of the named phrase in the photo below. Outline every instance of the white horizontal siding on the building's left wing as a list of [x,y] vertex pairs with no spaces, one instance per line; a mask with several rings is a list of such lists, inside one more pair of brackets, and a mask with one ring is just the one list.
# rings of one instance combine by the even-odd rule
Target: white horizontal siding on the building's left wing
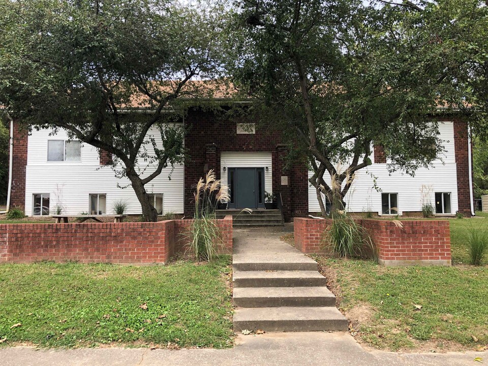
[[[49,135],[51,130],[33,131],[28,136],[27,166],[25,183],[25,212],[33,214],[33,194],[43,192],[50,194],[51,207],[59,205],[67,215],[79,215],[89,209],[89,195],[104,193],[107,196],[106,213],[113,215],[115,202],[127,202],[128,215],[141,214],[141,206],[130,187],[127,178],[118,179],[109,166],[101,166],[98,150],[87,144],[81,145],[81,161],[49,162],[47,161],[48,140],[68,140],[65,131]],[[150,130],[157,143],[161,144],[158,130]],[[141,167],[145,167],[140,163]],[[143,176],[156,169],[156,164],[148,167]],[[171,179],[169,178],[171,176]],[[163,169],[162,173],[145,188],[147,193],[164,194],[166,212],[182,214],[184,211],[184,167],[177,165]],[[118,184],[118,186],[117,186]],[[123,187],[120,188],[120,187]],[[124,188],[125,187],[125,188]]]

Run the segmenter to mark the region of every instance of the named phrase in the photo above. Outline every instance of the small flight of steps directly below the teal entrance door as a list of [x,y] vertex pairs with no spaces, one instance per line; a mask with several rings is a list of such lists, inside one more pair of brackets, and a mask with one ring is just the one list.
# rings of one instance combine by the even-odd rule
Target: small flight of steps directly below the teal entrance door
[[223,219],[227,215],[232,215],[232,224],[234,227],[252,227],[252,226],[276,226],[283,225],[283,216],[279,209],[265,210],[254,209],[252,214],[242,212],[241,209],[225,209],[215,211],[217,219]]

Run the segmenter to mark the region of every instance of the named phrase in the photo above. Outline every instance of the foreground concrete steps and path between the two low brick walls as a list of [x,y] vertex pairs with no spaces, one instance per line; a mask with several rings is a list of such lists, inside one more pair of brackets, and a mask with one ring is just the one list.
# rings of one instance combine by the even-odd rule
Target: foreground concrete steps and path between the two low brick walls
[[263,239],[269,244],[257,238],[235,248],[234,331],[347,331],[317,263],[279,238]]

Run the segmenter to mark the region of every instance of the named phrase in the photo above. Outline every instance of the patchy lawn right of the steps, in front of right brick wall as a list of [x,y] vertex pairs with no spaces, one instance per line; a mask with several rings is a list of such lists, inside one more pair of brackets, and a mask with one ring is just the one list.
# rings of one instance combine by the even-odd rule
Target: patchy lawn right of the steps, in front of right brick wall
[[357,337],[374,347],[488,344],[487,267],[386,268],[371,261],[316,259],[337,276],[339,306],[352,320],[362,318]]

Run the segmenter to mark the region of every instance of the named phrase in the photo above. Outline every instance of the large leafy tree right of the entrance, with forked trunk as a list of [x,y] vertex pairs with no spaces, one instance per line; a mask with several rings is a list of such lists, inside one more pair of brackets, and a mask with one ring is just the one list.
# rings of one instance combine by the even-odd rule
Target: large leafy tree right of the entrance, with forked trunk
[[343,209],[373,144],[383,146],[390,171],[413,175],[444,150],[433,123],[439,104],[473,125],[486,110],[477,99],[486,86],[473,86],[486,76],[487,8],[475,0],[419,4],[238,3],[230,74],[255,98],[255,112],[284,131],[293,155],[308,158],[324,215],[322,194]]

